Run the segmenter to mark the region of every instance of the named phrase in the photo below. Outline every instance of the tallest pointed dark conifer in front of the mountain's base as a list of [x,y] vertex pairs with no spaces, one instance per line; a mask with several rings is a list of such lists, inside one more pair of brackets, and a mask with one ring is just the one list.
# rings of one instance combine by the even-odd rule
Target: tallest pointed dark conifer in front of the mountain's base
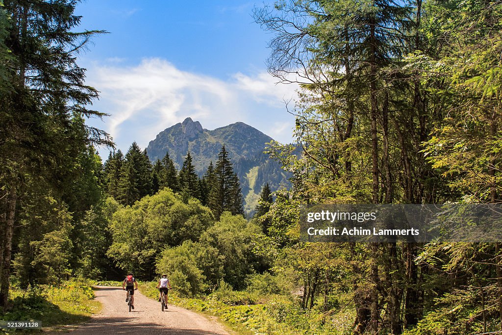
[[210,184],[208,205],[214,215],[219,218],[224,211],[232,214],[242,214],[242,193],[239,180],[233,173],[232,163],[223,145],[218,154],[214,168],[214,176]]

